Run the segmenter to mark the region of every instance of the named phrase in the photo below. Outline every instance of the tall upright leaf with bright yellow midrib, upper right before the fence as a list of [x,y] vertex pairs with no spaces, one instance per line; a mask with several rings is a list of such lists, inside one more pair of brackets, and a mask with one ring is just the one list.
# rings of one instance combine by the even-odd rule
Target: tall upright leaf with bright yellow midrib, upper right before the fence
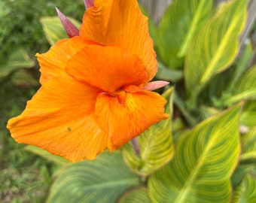
[[188,47],[184,79],[192,105],[212,76],[227,69],[236,58],[246,5],[246,0],[221,4]]

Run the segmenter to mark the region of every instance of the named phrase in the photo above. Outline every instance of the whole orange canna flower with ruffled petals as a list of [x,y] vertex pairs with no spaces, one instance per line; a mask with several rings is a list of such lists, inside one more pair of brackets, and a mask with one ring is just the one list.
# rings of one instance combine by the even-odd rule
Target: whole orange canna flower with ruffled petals
[[80,30],[36,54],[41,88],[7,126],[17,142],[72,162],[117,150],[169,117],[151,92],[167,83],[149,82],[157,60],[136,0],[85,2]]

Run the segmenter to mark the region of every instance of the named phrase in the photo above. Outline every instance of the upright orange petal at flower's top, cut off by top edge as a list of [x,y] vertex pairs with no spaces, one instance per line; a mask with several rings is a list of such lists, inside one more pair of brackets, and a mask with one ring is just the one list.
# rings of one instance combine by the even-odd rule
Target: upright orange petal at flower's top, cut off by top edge
[[80,29],[81,37],[99,44],[130,50],[142,59],[151,80],[157,72],[153,41],[148,33],[148,18],[136,0],[95,0],[87,9]]

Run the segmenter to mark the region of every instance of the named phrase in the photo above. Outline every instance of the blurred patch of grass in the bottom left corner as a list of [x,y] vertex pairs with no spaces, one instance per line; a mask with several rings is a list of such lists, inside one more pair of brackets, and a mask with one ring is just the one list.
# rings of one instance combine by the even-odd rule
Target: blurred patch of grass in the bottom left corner
[[44,202],[50,188],[50,163],[10,139],[2,147],[0,201]]

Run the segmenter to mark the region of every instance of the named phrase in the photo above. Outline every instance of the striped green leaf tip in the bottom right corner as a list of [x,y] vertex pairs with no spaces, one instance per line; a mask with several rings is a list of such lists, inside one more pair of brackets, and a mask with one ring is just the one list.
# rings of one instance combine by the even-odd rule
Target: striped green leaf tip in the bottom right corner
[[233,203],[255,203],[256,202],[256,177],[247,174],[242,183],[236,188]]

